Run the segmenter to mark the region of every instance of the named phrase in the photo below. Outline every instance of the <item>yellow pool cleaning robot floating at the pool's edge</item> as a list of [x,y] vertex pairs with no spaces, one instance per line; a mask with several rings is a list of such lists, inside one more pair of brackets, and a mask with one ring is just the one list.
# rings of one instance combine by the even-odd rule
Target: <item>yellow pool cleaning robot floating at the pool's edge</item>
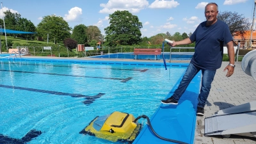
[[141,129],[141,124],[136,124],[134,120],[131,114],[115,111],[111,115],[97,116],[80,133],[114,142],[132,143]]

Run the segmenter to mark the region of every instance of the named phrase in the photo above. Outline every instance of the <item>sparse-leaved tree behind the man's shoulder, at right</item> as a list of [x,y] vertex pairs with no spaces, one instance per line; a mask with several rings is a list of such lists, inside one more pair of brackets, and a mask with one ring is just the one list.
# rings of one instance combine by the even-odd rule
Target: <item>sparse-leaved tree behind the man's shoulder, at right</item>
[[220,12],[217,19],[226,22],[232,35],[243,34],[251,26],[249,19],[246,19],[243,14],[239,15],[237,12]]

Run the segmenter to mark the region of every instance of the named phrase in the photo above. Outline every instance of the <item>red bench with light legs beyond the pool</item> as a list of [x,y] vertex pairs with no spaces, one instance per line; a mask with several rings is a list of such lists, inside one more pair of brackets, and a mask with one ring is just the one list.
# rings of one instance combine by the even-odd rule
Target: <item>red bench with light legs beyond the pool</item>
[[138,55],[155,55],[155,60],[157,55],[161,54],[161,49],[134,49],[135,60],[138,58]]

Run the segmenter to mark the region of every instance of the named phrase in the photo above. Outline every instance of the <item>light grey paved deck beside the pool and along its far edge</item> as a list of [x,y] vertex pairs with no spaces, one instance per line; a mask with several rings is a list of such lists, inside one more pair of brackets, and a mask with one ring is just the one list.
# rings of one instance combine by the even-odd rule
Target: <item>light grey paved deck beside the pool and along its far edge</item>
[[[51,59],[68,59],[68,60],[104,60],[104,61],[140,61],[148,62],[148,60],[124,60],[124,59],[103,59],[103,58],[58,58],[47,56],[22,56],[22,58],[51,58]],[[150,62],[162,62],[160,60],[149,60]],[[168,60],[166,60],[168,63]],[[189,61],[172,61],[172,63],[189,63]],[[204,136],[204,119],[215,115],[221,109],[231,108],[252,102],[256,100],[256,81],[251,76],[245,74],[241,68],[241,62],[236,62],[236,68],[233,76],[225,77],[224,68],[228,65],[227,61],[223,61],[221,68],[216,72],[210,95],[205,106],[205,116],[196,116],[196,131],[194,143],[207,144],[250,144],[256,143],[256,138],[246,136],[231,135],[230,138],[222,138],[221,136]]]

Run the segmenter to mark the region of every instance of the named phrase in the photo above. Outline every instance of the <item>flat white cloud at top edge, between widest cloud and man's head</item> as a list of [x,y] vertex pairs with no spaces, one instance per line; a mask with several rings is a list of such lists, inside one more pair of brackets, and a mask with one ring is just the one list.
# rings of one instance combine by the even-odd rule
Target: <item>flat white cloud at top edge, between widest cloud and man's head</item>
[[179,3],[177,1],[171,0],[171,1],[164,1],[164,0],[156,0],[148,8],[176,8],[179,6]]

